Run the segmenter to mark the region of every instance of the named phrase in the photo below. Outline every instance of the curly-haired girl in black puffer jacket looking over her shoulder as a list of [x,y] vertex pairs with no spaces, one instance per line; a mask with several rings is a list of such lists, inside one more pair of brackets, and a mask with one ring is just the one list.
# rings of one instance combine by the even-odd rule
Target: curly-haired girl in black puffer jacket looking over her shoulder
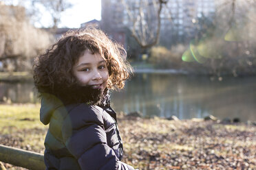
[[134,169],[121,162],[122,139],[109,89],[131,73],[126,52],[100,30],[67,32],[34,63],[47,169]]

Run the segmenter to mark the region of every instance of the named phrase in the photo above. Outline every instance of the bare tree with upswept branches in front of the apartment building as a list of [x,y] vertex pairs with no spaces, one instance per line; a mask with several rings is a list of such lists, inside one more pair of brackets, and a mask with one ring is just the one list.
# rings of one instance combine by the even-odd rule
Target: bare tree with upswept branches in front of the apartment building
[[159,41],[161,11],[168,0],[125,1],[123,5],[129,16],[128,25],[132,36],[142,49],[153,47]]

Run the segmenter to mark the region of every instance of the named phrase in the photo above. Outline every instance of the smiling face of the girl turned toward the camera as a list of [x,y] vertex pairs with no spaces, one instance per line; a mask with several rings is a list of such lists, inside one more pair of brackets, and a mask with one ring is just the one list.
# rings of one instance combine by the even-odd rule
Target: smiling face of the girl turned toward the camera
[[107,86],[109,78],[107,62],[99,53],[93,54],[86,50],[74,64],[72,71],[81,86],[91,86],[102,90]]

